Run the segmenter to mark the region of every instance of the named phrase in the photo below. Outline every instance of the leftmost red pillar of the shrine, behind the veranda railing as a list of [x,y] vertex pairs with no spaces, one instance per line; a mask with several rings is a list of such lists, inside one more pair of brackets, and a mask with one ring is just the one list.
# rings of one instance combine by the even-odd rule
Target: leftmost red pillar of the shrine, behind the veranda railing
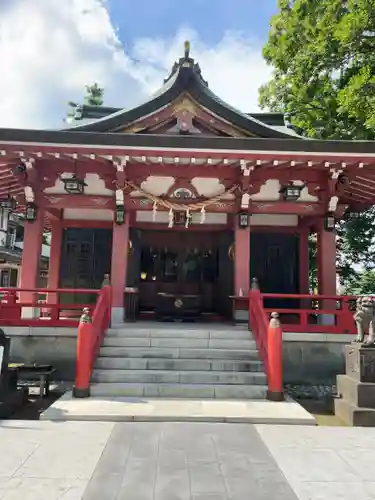
[[[37,288],[39,285],[39,262],[42,254],[43,233],[44,211],[39,208],[35,221],[25,221],[20,288]],[[31,303],[35,297],[35,293],[23,292],[20,294],[20,301]],[[25,310],[23,315],[30,317],[34,314],[32,310]]]

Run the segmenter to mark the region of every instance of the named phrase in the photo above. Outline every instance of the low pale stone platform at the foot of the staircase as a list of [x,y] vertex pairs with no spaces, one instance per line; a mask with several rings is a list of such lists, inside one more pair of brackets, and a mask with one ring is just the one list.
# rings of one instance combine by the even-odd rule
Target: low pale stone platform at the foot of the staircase
[[316,425],[314,417],[295,401],[194,400],[147,398],[74,399],[68,392],[41,420],[107,422],[237,422]]

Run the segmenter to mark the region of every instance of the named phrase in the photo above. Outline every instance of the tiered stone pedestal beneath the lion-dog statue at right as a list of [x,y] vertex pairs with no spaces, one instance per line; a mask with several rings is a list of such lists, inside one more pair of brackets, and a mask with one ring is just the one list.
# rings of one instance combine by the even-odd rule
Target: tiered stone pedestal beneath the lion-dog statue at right
[[348,425],[375,427],[375,348],[345,347],[346,374],[337,377],[335,414]]

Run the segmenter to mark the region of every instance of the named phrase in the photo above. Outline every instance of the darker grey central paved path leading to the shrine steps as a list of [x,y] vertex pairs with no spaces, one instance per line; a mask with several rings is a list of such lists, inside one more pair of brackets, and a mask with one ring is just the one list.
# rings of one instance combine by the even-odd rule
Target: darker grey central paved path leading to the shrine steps
[[253,426],[119,423],[83,498],[266,500],[275,491],[297,498]]

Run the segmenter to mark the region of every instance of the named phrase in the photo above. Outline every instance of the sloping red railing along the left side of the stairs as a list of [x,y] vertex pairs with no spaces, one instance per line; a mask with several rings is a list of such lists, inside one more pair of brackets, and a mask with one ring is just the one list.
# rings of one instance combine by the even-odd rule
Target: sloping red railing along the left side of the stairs
[[[77,398],[90,395],[90,379],[99,348],[111,321],[111,287],[100,290],[92,321],[84,317],[78,326],[76,380],[73,395]],[[87,317],[90,320],[90,316]]]

